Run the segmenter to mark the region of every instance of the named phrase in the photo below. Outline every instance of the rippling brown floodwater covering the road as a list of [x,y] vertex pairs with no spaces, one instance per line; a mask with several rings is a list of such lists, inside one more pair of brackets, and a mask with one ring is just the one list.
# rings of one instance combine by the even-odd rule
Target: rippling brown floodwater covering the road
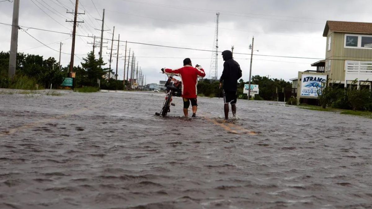
[[372,208],[372,120],[164,93],[0,95],[0,208]]

